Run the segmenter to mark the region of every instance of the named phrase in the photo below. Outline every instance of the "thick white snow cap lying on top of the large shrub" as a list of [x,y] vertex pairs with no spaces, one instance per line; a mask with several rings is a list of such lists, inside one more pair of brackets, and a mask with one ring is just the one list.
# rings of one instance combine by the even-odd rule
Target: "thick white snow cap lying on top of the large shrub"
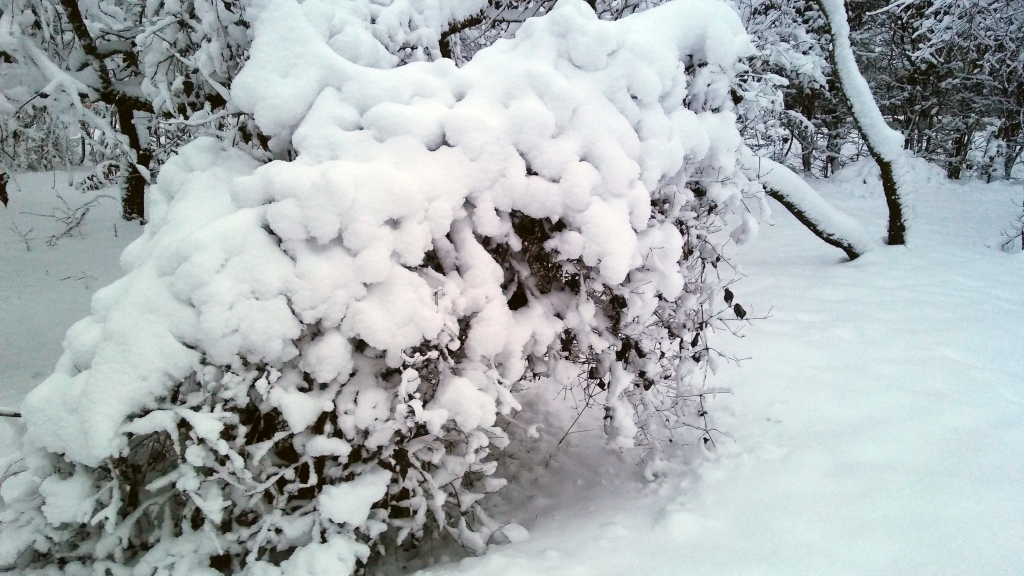
[[[195,348],[213,364],[280,364],[298,354],[301,325],[319,323],[303,367],[340,386],[352,370],[346,340],[398,364],[403,348],[451,340],[453,319],[470,314],[465,345],[479,367],[464,375],[480,399],[439,394],[431,408],[488,425],[493,405],[516,406],[497,382],[516,380],[524,355],[588,311],[560,303],[564,324],[551,302],[512,313],[474,233],[514,242],[512,210],[562,220],[551,240],[562,256],[617,284],[654,254],[642,279],[672,299],[685,282],[682,239],[648,225],[648,191],[708,164],[717,181],[745,181],[730,171],[741,147],[732,115],[690,110],[721,100],[721,71],[750,50],[724,4],[673,2],[604,23],[563,2],[461,70],[354,65],[306,15],[328,9],[268,3],[233,87],[261,129],[294,130],[298,158],[257,166],[204,139],[167,163],[151,223],[122,258],[129,273],[96,294],[54,374],[25,401],[32,443],[88,465],[118,454],[129,415],[200,369]],[[696,59],[708,66],[688,83],[683,60]],[[739,200],[738,186],[708,188]],[[461,274],[409,270],[431,249]],[[281,385],[271,402],[301,428],[331,400],[308,396]]]

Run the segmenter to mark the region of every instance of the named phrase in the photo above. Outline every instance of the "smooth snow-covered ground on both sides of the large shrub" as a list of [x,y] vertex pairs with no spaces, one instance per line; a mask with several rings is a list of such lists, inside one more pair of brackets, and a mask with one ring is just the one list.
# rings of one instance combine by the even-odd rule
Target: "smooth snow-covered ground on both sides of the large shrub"
[[[815,186],[881,236],[881,191],[851,174]],[[0,210],[0,406],[52,368],[138,234],[106,200],[47,247],[59,227],[22,212],[60,206],[52,179],[19,175]],[[599,425],[554,449],[548,422],[544,466],[493,509],[530,537],[421,576],[1024,573],[1024,255],[995,249],[1022,188],[921,191],[908,247],[847,263],[775,205],[734,250],[737,299],[770,314],[719,341],[748,360],[716,377],[733,394],[709,461],[648,483]],[[35,227],[31,252],[12,224]]]

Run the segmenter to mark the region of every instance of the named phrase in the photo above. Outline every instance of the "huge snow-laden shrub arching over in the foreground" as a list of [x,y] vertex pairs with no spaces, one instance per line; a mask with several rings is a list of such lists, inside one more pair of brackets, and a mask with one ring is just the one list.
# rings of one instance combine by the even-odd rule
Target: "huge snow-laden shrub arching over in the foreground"
[[735,12],[563,0],[464,68],[382,70],[342,10],[267,2],[231,87],[294,160],[201,138],[164,166],[127,275],[22,407],[0,566],[349,574],[429,531],[482,551],[522,382],[586,395],[652,469],[710,440],[707,338],[744,315],[717,270],[759,201]]

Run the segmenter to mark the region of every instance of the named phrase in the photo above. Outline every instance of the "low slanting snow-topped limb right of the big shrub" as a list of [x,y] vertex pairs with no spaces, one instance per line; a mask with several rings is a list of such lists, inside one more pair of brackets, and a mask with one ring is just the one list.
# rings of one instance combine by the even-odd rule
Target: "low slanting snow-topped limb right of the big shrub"
[[793,170],[766,158],[753,157],[744,160],[743,171],[749,178],[757,178],[768,196],[814,236],[843,250],[851,260],[874,248],[874,241],[860,222],[837,210]]

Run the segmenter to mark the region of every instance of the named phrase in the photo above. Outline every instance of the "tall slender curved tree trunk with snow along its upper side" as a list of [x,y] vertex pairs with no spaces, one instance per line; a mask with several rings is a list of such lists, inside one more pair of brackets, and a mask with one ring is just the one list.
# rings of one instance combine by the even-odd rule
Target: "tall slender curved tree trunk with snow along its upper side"
[[860,137],[867,145],[867,152],[882,172],[882,189],[889,207],[890,245],[906,243],[906,182],[909,153],[903,149],[903,134],[886,123],[879,105],[871,95],[871,88],[860,74],[857,60],[850,45],[850,23],[846,15],[844,0],[816,0],[825,13],[831,31],[833,64],[839,76],[840,86],[853,110],[854,123]]

